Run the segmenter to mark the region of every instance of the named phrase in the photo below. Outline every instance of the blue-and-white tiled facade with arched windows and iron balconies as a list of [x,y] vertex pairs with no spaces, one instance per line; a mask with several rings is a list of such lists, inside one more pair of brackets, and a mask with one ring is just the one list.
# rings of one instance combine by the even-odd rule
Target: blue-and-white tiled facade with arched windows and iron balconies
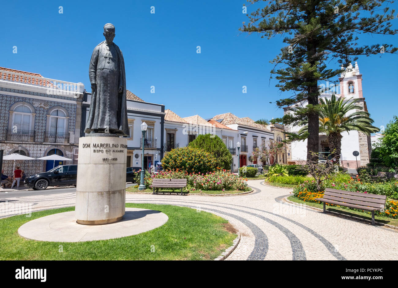
[[[77,164],[74,159],[80,136],[82,93],[74,97],[70,93],[54,95],[34,84],[25,84],[21,90],[18,87],[21,83],[16,83],[15,78],[4,76],[6,71],[0,67],[3,75],[0,77],[0,149],[4,155],[18,153],[40,158],[58,154],[72,159],[62,164]],[[16,86],[15,89],[12,86]],[[15,162],[26,175],[47,171],[49,165],[54,164],[57,166],[59,162]],[[12,175],[14,162],[5,160],[3,169],[5,175]]]

